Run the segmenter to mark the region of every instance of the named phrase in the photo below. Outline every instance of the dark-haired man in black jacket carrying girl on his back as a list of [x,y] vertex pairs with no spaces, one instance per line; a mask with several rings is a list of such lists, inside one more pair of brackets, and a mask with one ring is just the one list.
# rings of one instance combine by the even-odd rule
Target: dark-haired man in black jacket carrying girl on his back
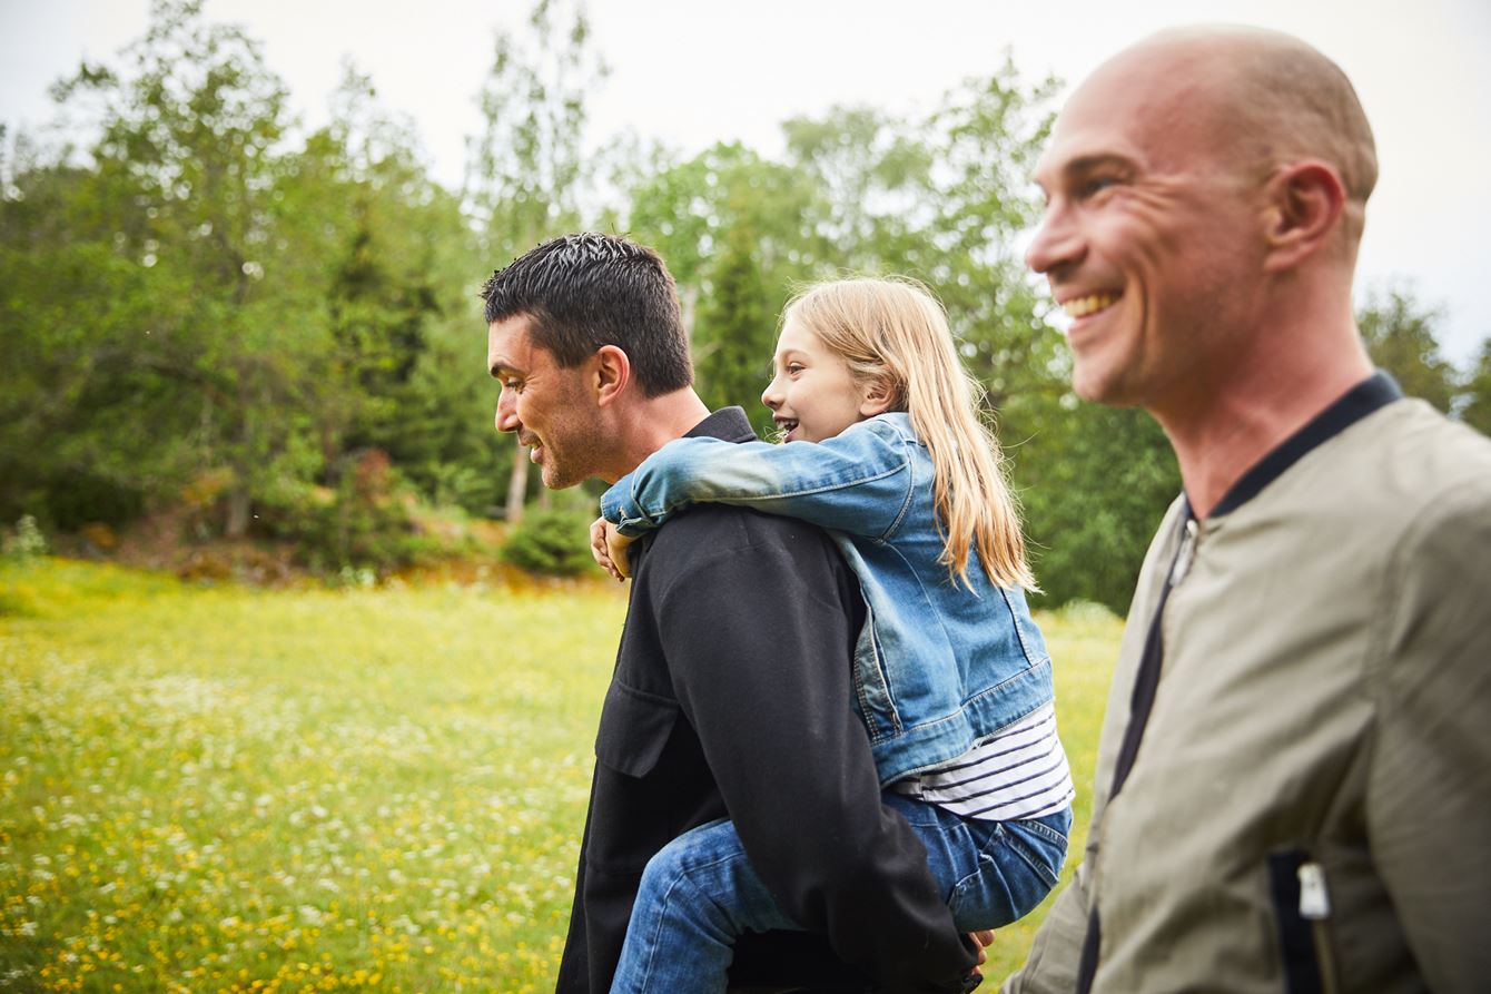
[[[546,487],[614,482],[683,436],[753,436],[693,393],[672,278],[655,252],[570,234],[497,272],[488,367]],[[865,606],[811,525],[707,504],[631,546],[632,590],[601,710],[562,994],[604,994],[649,858],[731,818],[808,933],[746,936],[732,987],[962,991],[957,934],[911,827],[880,803],[851,707]]]

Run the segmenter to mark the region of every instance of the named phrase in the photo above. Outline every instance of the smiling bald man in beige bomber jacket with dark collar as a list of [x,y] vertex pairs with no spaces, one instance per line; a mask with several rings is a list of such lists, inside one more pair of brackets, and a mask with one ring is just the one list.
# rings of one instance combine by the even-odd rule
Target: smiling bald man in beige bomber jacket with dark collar
[[1372,131],[1308,45],[1170,31],[1062,110],[1027,261],[1161,424],[1077,876],[1006,990],[1491,990],[1491,442],[1375,373]]

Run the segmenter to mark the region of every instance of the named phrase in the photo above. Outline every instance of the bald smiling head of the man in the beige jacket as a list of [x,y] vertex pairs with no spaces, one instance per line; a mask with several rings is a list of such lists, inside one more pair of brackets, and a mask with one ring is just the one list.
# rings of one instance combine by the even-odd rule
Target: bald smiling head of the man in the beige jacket
[[1285,348],[1357,367],[1351,282],[1376,155],[1351,82],[1309,45],[1156,34],[1072,93],[1036,181],[1047,206],[1026,261],[1072,319],[1078,394],[1178,422]]

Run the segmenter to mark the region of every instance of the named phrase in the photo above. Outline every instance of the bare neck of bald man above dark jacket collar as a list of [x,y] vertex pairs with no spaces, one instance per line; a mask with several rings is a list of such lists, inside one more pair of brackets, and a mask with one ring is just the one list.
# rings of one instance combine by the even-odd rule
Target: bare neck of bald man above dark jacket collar
[[[1372,375],[1355,325],[1272,336],[1241,357],[1205,400],[1153,410],[1175,448],[1185,496],[1205,518],[1252,466]],[[1311,343],[1311,345],[1302,345]],[[1314,348],[1312,348],[1314,346]]]

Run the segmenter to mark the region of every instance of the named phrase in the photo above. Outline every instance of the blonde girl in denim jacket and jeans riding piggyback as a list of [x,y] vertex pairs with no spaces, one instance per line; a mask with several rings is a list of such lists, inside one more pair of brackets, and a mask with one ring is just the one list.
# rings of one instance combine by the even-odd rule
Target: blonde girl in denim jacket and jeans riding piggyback
[[[917,831],[963,931],[1009,924],[1050,893],[1074,795],[1020,521],[974,391],[924,290],[820,284],[787,306],[762,394],[786,445],[680,439],[601,500],[619,536],[698,501],[830,530],[866,603],[853,706],[884,803]],[[625,567],[626,539],[613,542]],[[798,925],[734,825],[695,828],[647,864],[611,991],[725,991],[735,937],[769,928]]]

